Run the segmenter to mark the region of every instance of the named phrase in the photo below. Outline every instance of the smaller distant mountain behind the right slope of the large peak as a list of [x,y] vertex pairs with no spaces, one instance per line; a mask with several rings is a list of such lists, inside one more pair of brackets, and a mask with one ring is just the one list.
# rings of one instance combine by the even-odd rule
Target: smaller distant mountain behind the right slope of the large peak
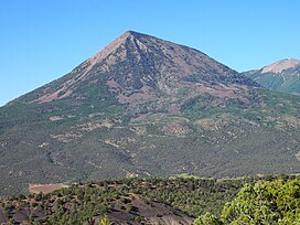
[[260,69],[243,73],[261,86],[294,95],[300,95],[300,61],[286,58]]

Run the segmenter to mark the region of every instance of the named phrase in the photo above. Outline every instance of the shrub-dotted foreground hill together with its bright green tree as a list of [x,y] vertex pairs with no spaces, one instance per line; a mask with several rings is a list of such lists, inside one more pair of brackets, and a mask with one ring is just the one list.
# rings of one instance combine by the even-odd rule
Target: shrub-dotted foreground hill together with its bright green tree
[[296,175],[90,181],[49,194],[2,199],[0,223],[99,224],[107,215],[114,224],[190,225],[197,216],[205,221],[208,213],[215,214],[216,221],[222,217],[224,224],[249,224],[255,219],[255,224],[266,219],[272,224],[282,217],[282,224],[287,224],[297,221],[299,184]]

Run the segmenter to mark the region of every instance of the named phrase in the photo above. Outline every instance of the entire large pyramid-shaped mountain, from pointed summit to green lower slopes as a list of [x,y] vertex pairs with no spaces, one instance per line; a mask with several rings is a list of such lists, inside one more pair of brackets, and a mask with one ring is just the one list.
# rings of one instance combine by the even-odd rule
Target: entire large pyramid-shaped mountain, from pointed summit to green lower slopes
[[129,31],[0,108],[0,194],[119,176],[298,172],[299,98]]

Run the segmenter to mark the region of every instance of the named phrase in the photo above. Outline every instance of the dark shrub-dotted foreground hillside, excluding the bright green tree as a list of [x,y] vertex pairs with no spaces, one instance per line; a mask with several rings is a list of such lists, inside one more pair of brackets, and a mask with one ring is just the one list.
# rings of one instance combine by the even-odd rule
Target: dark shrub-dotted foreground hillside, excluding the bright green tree
[[[190,225],[205,210],[219,213],[243,183],[192,178],[89,181],[49,194],[4,199],[0,223],[83,224],[106,214],[115,224]],[[216,199],[218,204],[213,203]]]

